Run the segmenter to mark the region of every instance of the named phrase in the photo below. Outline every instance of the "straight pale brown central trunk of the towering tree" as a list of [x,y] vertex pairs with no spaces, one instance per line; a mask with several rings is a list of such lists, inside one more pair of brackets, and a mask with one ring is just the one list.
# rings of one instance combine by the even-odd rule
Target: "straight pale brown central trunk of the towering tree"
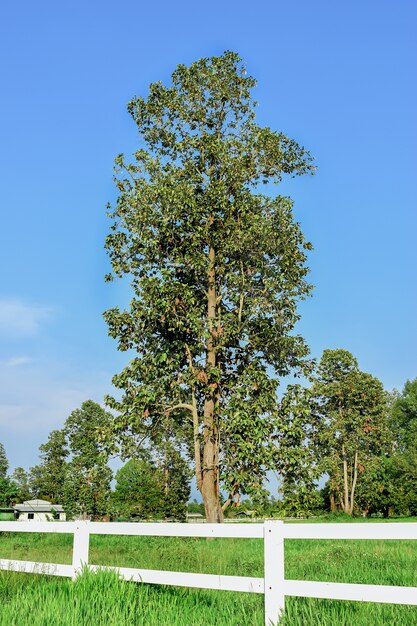
[[[207,286],[207,349],[206,368],[216,367],[215,319],[217,312],[215,251],[209,249],[209,268]],[[203,496],[206,519],[208,522],[223,521],[223,511],[220,506],[219,489],[219,431],[217,426],[216,409],[219,405],[218,389],[208,385],[204,401],[203,417],[203,467],[201,495]]]

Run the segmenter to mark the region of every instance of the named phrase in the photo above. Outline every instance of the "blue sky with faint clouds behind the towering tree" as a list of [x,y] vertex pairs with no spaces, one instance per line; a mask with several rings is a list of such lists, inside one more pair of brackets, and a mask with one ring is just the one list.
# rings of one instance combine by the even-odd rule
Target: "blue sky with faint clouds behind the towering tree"
[[0,10],[0,441],[13,467],[126,362],[102,312],[114,157],[133,95],[178,63],[234,50],[260,123],[316,157],[286,181],[312,241],[298,331],[387,389],[417,376],[417,4],[246,0],[3,3]]

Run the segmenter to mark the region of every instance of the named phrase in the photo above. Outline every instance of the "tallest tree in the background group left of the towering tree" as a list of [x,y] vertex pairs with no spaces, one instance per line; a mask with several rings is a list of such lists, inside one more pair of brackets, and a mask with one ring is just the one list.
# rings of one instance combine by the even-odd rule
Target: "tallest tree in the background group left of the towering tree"
[[107,465],[109,453],[101,440],[112,419],[99,404],[87,400],[65,422],[63,432],[70,460],[63,502],[70,515],[86,518],[108,513],[112,471]]

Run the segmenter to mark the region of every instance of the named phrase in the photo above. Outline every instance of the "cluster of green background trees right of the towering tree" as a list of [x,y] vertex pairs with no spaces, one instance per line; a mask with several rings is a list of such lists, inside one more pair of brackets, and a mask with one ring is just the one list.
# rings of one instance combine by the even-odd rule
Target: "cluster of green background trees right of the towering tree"
[[350,352],[325,350],[310,386],[289,386],[280,408],[279,498],[243,508],[296,517],[417,515],[417,379],[388,393]]

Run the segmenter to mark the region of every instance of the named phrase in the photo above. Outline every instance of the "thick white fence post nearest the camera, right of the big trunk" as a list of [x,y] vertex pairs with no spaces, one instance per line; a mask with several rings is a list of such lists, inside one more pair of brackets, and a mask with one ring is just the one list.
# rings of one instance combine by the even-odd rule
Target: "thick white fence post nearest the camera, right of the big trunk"
[[285,608],[284,522],[264,522],[265,626],[276,626]]

